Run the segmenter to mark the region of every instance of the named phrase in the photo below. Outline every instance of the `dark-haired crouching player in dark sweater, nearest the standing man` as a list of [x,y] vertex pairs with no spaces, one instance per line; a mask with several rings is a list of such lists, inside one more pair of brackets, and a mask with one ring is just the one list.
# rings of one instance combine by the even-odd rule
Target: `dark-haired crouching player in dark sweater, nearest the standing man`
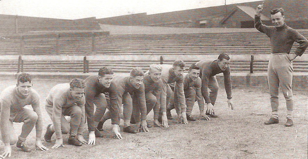
[[[219,117],[214,113],[214,104],[217,98],[218,93],[218,82],[216,79],[216,74],[223,73],[224,74],[224,84],[225,90],[227,93],[228,105],[231,106],[233,110],[233,102],[232,102],[232,85],[231,85],[231,76],[230,76],[230,57],[226,53],[222,53],[218,56],[217,60],[201,60],[196,63],[197,66],[200,67],[201,73],[201,92],[202,96],[206,103],[206,115],[209,115],[212,118]],[[208,91],[210,89],[210,92]]]

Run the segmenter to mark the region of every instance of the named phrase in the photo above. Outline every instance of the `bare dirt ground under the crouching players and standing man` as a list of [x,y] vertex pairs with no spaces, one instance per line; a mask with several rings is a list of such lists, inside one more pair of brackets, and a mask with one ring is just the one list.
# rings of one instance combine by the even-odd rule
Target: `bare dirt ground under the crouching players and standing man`
[[[15,81],[0,78],[0,90],[15,85]],[[52,86],[68,81],[34,79],[33,82],[34,89],[40,94],[44,134],[51,123],[44,108],[45,98]],[[67,145],[68,135],[64,135],[64,147],[45,152],[36,149],[26,153],[12,146],[11,158],[307,158],[307,92],[294,91],[293,127],[284,126],[286,104],[282,94],[279,95],[280,122],[274,125],[263,124],[270,118],[271,111],[266,88],[235,88],[232,94],[234,110],[228,108],[225,90],[219,89],[215,112],[220,117],[210,121],[198,119],[188,124],[177,124],[173,119],[169,121],[169,128],[152,127],[148,133],[137,134],[121,132],[123,139],[118,140],[113,138],[111,122],[108,120],[104,124],[105,136],[97,138],[95,145]],[[171,112],[173,116],[176,115],[175,110]],[[197,102],[192,115],[199,115]],[[152,119],[153,113],[150,112],[148,121]],[[20,133],[21,125],[14,123],[17,133]],[[52,143],[44,141],[43,144],[51,148],[55,135],[52,139]],[[28,145],[33,149],[34,141],[35,130],[27,138]],[[1,142],[0,151],[3,146]]]

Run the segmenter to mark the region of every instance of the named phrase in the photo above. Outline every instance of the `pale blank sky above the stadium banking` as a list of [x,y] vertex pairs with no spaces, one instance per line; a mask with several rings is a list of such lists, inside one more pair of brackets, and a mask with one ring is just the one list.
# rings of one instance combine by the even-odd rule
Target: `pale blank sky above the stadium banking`
[[[226,4],[257,0],[226,0]],[[58,19],[156,14],[225,5],[225,0],[0,0],[0,14]]]

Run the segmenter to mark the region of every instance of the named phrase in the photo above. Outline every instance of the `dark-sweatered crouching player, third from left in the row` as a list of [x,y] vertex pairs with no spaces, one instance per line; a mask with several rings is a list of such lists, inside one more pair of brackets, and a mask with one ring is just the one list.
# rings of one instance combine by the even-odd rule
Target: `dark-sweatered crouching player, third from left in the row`
[[[102,128],[98,125],[99,121],[103,118],[106,108],[110,111],[112,119],[111,124],[113,125],[113,132],[118,139],[121,139],[120,134],[120,106],[118,100],[120,98],[119,88],[116,83],[113,82],[113,71],[111,68],[102,67],[98,71],[97,75],[89,76],[85,79],[85,111],[87,115],[89,141],[88,145],[95,145],[95,137],[103,137],[101,131]],[[107,104],[106,97],[103,93],[109,93],[110,104]],[[94,113],[94,104],[96,110]]]

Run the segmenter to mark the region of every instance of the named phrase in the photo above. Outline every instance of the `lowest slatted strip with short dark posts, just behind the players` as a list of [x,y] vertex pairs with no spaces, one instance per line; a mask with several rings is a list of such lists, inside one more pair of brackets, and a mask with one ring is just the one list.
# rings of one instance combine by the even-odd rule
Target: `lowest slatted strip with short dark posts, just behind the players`
[[[173,60],[164,60],[160,56],[157,60],[28,60],[18,57],[18,60],[1,60],[0,72],[97,72],[102,66],[108,66],[115,72],[129,72],[132,68],[138,66],[143,70],[148,70],[150,64],[172,64]],[[185,61],[186,68],[196,63],[196,60]],[[250,61],[231,61],[230,68],[232,72],[250,72],[267,71],[268,61],[254,61],[251,55]],[[294,61],[294,71],[308,72],[308,61]]]

